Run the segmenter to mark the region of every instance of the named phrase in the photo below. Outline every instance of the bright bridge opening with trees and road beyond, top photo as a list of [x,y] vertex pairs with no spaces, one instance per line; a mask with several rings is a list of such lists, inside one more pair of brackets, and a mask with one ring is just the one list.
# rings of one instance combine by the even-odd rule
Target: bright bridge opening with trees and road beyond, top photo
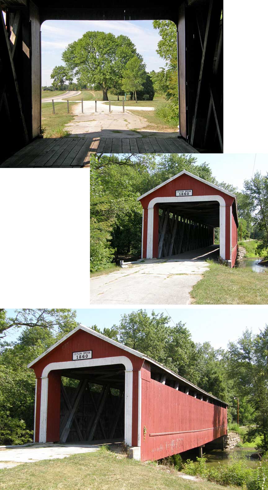
[[[81,15],[85,17],[86,13]],[[164,74],[162,67],[165,65],[165,60],[157,53],[161,36],[159,29],[153,27],[153,20],[44,21],[41,25],[41,107],[44,136],[53,138],[61,136],[59,125],[56,127],[53,124],[50,128],[54,110],[53,118],[59,120],[67,115],[69,110],[70,121],[67,121],[62,131],[67,129],[70,137],[78,135],[113,140],[117,138],[119,144],[119,140],[123,138],[137,137],[137,131],[146,135],[148,125],[150,134],[155,132],[157,136],[159,124],[162,124],[161,131],[170,136],[170,124],[167,119],[171,118],[171,114],[166,117],[165,112],[173,111],[173,133],[177,138],[179,124],[177,36],[176,25],[171,21],[168,22],[174,27],[174,53],[172,67],[169,69],[167,67]],[[104,49],[100,48],[98,52],[98,47],[94,47],[97,50],[95,62],[91,56],[90,59],[83,59],[83,63],[79,64],[79,61],[75,61],[75,56],[68,54],[73,52],[71,51],[73,43],[80,40],[85,33],[97,33],[97,31],[105,35],[111,33],[113,40],[107,39],[106,51],[105,38]],[[122,45],[117,51],[112,47],[115,39]],[[92,53],[93,49],[87,51]],[[139,87],[138,85],[136,87],[133,80],[128,79],[125,73],[127,63],[134,57],[138,57],[142,63]],[[72,58],[71,64],[68,63],[70,58]],[[174,72],[174,76],[169,76],[170,70]],[[103,73],[103,78],[100,73]],[[172,87],[170,84],[173,84]],[[171,93],[174,95],[170,98]],[[72,115],[78,116],[74,124]],[[114,146],[116,148],[116,144]],[[110,150],[108,151],[106,147],[104,153]],[[118,152],[121,151],[123,150],[118,148]],[[129,147],[129,152],[132,152],[132,147]],[[139,152],[138,148],[136,152]]]

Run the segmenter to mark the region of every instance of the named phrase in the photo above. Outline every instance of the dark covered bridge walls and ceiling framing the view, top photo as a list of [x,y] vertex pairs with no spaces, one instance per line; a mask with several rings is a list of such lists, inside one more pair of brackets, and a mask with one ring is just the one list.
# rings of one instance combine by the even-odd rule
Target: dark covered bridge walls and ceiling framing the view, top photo
[[[1,9],[6,13],[6,24],[0,16],[2,161],[41,136],[41,24],[46,20],[174,22],[179,137],[191,147],[223,152],[223,0],[137,1],[134,6],[122,1],[1,0]],[[167,147],[166,152],[173,151]]]

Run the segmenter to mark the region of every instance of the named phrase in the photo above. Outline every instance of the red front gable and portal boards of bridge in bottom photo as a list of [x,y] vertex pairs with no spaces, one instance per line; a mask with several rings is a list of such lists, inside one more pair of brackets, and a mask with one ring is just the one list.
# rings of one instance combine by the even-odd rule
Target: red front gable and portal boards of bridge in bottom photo
[[[92,358],[125,356],[133,365],[133,404],[132,404],[132,445],[138,444],[138,370],[143,364],[143,359],[112,345],[89,332],[78,330],[66,339],[58,347],[49,352],[33,369],[38,378],[37,411],[36,411],[36,441],[39,441],[40,429],[40,399],[41,399],[41,374],[50,363],[72,361],[72,353],[82,350],[92,350]],[[60,373],[51,371],[48,376],[48,411],[47,411],[47,442],[59,441],[60,427]]]

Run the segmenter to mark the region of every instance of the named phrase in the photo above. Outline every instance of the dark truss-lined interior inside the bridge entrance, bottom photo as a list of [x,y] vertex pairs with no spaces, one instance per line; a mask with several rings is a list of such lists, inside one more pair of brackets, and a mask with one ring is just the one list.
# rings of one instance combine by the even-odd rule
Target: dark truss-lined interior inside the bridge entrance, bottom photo
[[124,366],[61,371],[60,441],[124,441]]

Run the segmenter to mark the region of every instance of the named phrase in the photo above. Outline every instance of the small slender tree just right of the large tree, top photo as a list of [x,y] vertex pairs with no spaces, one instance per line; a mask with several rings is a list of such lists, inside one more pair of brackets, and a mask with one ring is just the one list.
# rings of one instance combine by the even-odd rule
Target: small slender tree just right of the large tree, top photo
[[142,90],[145,78],[145,65],[138,56],[134,56],[125,65],[122,88],[125,92],[133,92],[136,102],[137,90]]

